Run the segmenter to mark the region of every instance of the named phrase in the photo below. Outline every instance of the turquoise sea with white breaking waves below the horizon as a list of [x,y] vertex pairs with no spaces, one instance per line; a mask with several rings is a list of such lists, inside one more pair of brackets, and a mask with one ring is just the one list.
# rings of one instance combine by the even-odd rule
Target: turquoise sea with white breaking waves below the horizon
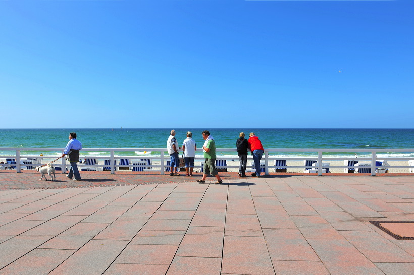
[[[63,148],[68,135],[74,131],[84,148],[166,148],[171,129],[0,129],[0,147],[51,147]],[[182,144],[186,132],[193,133],[199,148],[204,143],[201,132],[204,129],[175,129],[177,140]],[[414,148],[414,129],[208,129],[216,140],[217,148],[235,148],[240,132],[248,137],[254,132],[262,141],[264,148]],[[218,150],[219,151],[219,150]],[[24,155],[59,155],[61,152],[25,152]],[[107,152],[83,152],[102,154]],[[118,152],[120,155],[160,155],[160,152]],[[0,150],[0,155],[15,154]],[[199,153],[201,154],[201,152]],[[349,153],[327,153],[346,155]],[[225,155],[236,155],[225,152]],[[275,153],[277,155],[277,153]],[[304,156],[306,153],[283,153],[283,155]],[[353,154],[352,154],[353,155]],[[360,154],[363,156],[363,153]],[[384,156],[411,157],[413,153],[388,153]]]

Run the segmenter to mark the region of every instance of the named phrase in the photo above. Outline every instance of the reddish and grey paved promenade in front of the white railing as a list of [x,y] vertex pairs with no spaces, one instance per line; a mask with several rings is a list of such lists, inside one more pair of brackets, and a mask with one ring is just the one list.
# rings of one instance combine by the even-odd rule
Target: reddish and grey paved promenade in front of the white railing
[[414,273],[414,177],[221,174],[0,172],[0,274]]

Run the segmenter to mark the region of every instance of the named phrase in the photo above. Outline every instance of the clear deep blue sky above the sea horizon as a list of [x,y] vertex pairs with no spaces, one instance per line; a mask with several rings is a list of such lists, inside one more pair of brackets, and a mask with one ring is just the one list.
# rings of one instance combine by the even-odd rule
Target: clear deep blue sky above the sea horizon
[[414,128],[414,1],[0,0],[0,128]]

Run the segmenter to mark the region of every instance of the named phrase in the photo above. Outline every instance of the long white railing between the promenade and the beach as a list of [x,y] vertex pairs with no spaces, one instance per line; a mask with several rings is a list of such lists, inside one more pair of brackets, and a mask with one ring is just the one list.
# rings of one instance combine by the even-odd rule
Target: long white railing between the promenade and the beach
[[[22,159],[20,152],[21,151],[37,151],[37,152],[47,152],[47,151],[53,151],[53,152],[62,152],[63,154],[63,148],[0,148],[0,151],[16,151],[15,155],[8,155],[8,156],[0,156],[0,158],[13,158],[16,157],[16,164],[13,166],[16,166],[16,172],[21,172],[21,163],[20,160]],[[109,159],[110,164],[95,164],[91,165],[93,167],[111,167],[111,174],[115,174],[115,168],[116,167],[131,167],[132,165],[123,166],[123,165],[115,165],[115,160],[119,158],[129,158],[129,159],[150,159],[150,160],[160,160],[160,165],[149,165],[150,168],[160,168],[160,173],[164,174],[166,165],[164,164],[165,160],[169,160],[169,155],[167,154],[166,148],[83,148],[81,152],[109,152],[110,156],[83,156],[81,155],[81,159],[83,158],[95,158],[95,159]],[[160,156],[156,157],[150,157],[150,156],[117,156],[115,157],[115,152],[135,152],[135,151],[151,151],[151,152],[160,152]],[[201,149],[197,149],[197,152],[202,152]],[[217,148],[217,152],[236,152],[236,149],[233,148]],[[271,152],[310,152],[310,153],[316,153],[317,157],[273,157],[269,156],[269,153]],[[328,160],[344,160],[345,158],[339,158],[339,157],[331,157],[331,156],[323,156],[323,153],[327,152],[349,152],[349,153],[355,153],[355,152],[366,152],[367,154],[371,154],[371,158],[352,158],[347,157],[347,160],[356,160],[356,161],[369,161],[371,162],[370,166],[365,166],[365,168],[371,168],[371,175],[375,176],[375,161],[379,158],[376,158],[377,153],[381,152],[414,152],[414,149],[292,149],[292,148],[276,148],[276,149],[265,149],[264,153],[264,160],[265,160],[265,175],[269,174],[269,168],[314,168],[317,169],[318,175],[322,175],[322,169],[323,166],[275,166],[275,165],[269,165],[270,160],[294,160],[294,161],[300,161],[300,160],[316,160],[318,163],[323,163],[323,161]],[[167,155],[165,157],[165,154]],[[24,158],[41,158],[43,159],[50,159],[54,160],[57,156],[24,156]],[[237,155],[234,157],[220,157],[218,156],[217,159],[224,159],[224,160],[233,160],[238,158]],[[204,160],[202,157],[196,157],[196,160]],[[249,158],[251,159],[251,158]],[[395,161],[404,161],[404,160],[411,160],[411,158],[405,158],[405,157],[388,157],[384,158],[381,157],[382,160],[395,160]],[[66,160],[62,158],[62,173],[66,173],[66,167],[67,167]],[[10,166],[10,164],[0,164],[0,166]],[[56,165],[60,166],[60,165]],[[227,166],[227,168],[238,168],[239,166]],[[329,166],[329,168],[355,168],[354,166]],[[410,166],[387,166],[387,168],[410,168]],[[154,171],[154,170],[151,170]]]

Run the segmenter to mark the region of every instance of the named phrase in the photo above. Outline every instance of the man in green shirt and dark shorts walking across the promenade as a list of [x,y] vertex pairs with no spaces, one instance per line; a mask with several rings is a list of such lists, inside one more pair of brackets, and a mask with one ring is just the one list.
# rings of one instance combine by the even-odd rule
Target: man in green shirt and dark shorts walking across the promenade
[[201,179],[198,179],[197,182],[205,183],[205,178],[208,174],[215,176],[217,178],[217,182],[214,184],[221,184],[223,180],[220,178],[219,173],[217,172],[215,163],[216,163],[216,143],[214,141],[213,136],[210,135],[209,131],[202,132],[202,138],[205,140],[202,149],[204,151],[204,174],[202,175]]

